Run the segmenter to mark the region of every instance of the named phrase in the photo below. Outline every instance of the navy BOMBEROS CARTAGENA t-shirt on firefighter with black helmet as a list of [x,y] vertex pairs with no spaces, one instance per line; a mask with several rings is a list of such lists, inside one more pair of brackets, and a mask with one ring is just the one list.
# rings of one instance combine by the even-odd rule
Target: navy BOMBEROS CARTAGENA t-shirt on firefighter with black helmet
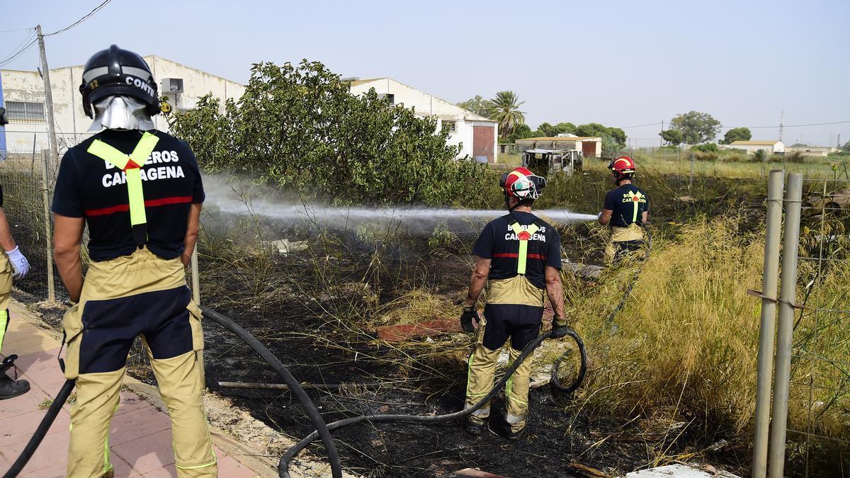
[[[162,259],[180,257],[192,203],[204,202],[204,187],[195,154],[184,141],[161,131],[159,142],[142,168],[147,248]],[[56,178],[53,211],[69,218],[86,218],[88,255],[92,260],[115,259],[133,253],[127,176],[90,154],[88,146],[100,139],[129,154],[139,144],[141,131],[105,129],[62,157]]]

